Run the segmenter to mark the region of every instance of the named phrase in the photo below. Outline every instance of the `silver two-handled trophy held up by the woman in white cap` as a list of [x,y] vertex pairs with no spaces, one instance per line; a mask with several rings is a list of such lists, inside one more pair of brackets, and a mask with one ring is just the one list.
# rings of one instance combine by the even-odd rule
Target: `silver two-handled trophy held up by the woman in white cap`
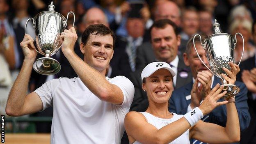
[[[235,94],[238,94],[240,89],[236,85],[227,84],[226,80],[222,78],[221,76],[222,73],[227,75],[226,72],[222,69],[222,67],[225,67],[226,69],[229,69],[229,71],[231,71],[231,66],[229,65],[229,62],[234,63],[234,49],[237,42],[236,35],[239,34],[242,37],[242,34],[238,32],[235,34],[235,38],[234,38],[231,34],[222,33],[219,29],[219,23],[217,23],[216,19],[215,19],[215,23],[213,24],[213,28],[214,28],[214,34],[207,37],[203,41],[204,43],[202,43],[202,39],[199,34],[196,34],[194,36],[194,39],[193,39],[194,49],[197,52],[197,48],[195,46],[194,40],[197,36],[199,36],[201,45],[203,49],[206,51],[206,57],[210,64],[210,68],[206,66],[206,64],[202,61],[198,53],[197,53],[197,56],[199,57],[200,61],[214,75],[216,75],[218,78],[221,79],[222,85],[224,86],[223,91],[225,90],[227,91],[227,93],[223,96],[223,98],[228,98],[228,97],[234,96]],[[242,50],[242,55],[243,55],[244,47],[245,47],[243,37],[242,37],[242,40],[243,40],[243,50]],[[238,65],[240,64],[241,60],[242,60],[242,56]]]

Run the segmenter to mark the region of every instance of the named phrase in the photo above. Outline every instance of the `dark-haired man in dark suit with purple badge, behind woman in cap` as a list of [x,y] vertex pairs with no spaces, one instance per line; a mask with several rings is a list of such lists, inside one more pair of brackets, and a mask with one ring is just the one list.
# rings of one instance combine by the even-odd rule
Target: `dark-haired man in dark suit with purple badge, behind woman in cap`
[[[179,88],[192,80],[189,67],[185,66],[181,57],[177,55],[178,46],[181,44],[181,37],[177,31],[176,25],[168,19],[156,21],[150,29],[154,52],[151,62],[163,61],[172,66],[172,69],[177,73],[173,80],[175,88]],[[148,107],[148,99],[146,93],[142,91],[141,71],[137,70],[132,73],[130,80],[135,86],[135,96],[131,110],[142,112]]]

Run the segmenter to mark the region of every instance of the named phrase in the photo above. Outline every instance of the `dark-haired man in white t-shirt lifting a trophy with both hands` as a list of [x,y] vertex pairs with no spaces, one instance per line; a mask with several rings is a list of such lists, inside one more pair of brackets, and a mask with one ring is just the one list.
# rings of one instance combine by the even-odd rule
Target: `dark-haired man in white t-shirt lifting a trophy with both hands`
[[28,80],[37,52],[33,39],[25,34],[21,47],[25,55],[21,72],[9,94],[6,112],[20,116],[52,106],[51,143],[120,143],[123,120],[133,101],[133,84],[123,76],[105,77],[114,53],[114,35],[105,25],[90,25],[82,34],[80,50],[74,52],[74,27],[62,32],[62,52],[78,74],[73,79],[46,82],[26,95]]

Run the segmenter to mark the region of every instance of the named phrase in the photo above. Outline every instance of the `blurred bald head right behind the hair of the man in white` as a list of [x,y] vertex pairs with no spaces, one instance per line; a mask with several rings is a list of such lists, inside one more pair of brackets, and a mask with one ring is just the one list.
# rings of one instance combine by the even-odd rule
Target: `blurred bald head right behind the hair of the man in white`
[[86,19],[84,23],[85,23],[85,28],[87,28],[89,25],[94,25],[94,24],[103,24],[109,27],[105,14],[103,13],[103,11],[101,11],[98,8],[92,8],[87,11]]

